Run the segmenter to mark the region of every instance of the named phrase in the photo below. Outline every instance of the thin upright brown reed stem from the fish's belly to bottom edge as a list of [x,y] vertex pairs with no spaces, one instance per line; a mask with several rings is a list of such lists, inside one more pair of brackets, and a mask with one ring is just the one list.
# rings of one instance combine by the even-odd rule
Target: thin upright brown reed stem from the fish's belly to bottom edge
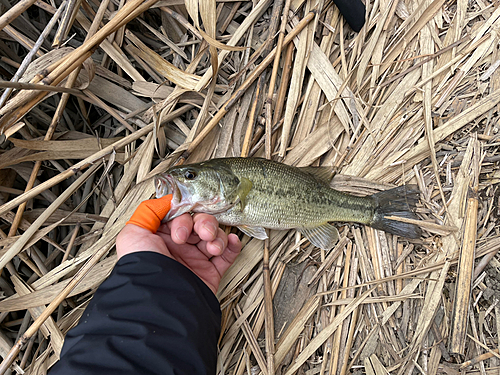
[[273,310],[273,290],[271,285],[271,272],[269,270],[269,236],[264,241],[264,255],[262,259],[262,276],[264,278],[264,315],[265,315],[265,335],[267,372],[274,375],[274,310]]

